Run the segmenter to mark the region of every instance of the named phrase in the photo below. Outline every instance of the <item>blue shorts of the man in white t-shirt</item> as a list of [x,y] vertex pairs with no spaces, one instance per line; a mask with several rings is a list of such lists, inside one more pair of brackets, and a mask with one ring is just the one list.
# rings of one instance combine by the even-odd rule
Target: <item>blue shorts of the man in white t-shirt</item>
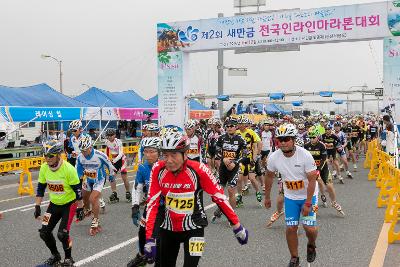
[[299,221],[306,226],[317,226],[317,197],[313,196],[312,206],[308,216],[302,215],[302,208],[306,200],[292,200],[285,197],[285,221],[286,226],[297,226]]

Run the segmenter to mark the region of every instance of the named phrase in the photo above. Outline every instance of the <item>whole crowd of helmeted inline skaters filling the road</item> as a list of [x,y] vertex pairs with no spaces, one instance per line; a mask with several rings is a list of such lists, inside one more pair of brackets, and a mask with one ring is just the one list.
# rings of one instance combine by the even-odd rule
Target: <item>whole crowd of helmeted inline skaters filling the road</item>
[[[132,222],[139,227],[139,249],[128,267],[175,266],[181,243],[184,266],[197,266],[207,226],[203,192],[217,204],[211,221],[219,223],[226,217],[238,242],[246,244],[249,234],[235,209],[246,208],[245,196],[250,194],[270,208],[274,178],[279,192],[276,210],[265,223],[269,227],[284,215],[289,266],[300,263],[297,231],[302,224],[311,263],[316,258],[318,196],[322,206],[328,207],[327,193],[330,206],[344,216],[333,180],[345,184],[344,177],[353,179],[352,172],[357,171],[357,161],[366,153],[368,142],[379,135],[392,154],[389,139],[393,129],[389,123],[382,127],[379,120],[374,115],[321,115],[269,117],[255,123],[247,115],[235,115],[207,123],[189,120],[184,129],[146,124],[138,152],[141,164],[132,188],[115,129],[104,131],[107,149],[103,153],[94,149],[97,140],[83,133],[81,122],[73,121],[68,144],[57,140],[44,144],[46,163],[39,172],[34,212],[34,217],[42,220],[40,237],[51,252],[44,264],[73,266],[69,231],[74,215],[78,222],[92,217],[90,235],[101,232],[99,217],[106,205],[102,189],[108,180],[112,190],[108,202],[118,202],[115,178],[119,172],[125,198],[132,203]],[[61,156],[64,151],[67,161]],[[46,188],[50,204],[42,216],[40,205]],[[63,261],[52,234],[59,221],[57,237],[65,252]]]

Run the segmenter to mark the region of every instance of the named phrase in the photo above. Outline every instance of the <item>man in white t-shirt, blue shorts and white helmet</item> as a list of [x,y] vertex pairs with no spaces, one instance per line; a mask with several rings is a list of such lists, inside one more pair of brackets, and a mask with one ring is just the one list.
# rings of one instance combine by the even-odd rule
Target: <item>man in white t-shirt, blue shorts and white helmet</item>
[[289,267],[299,266],[297,229],[303,224],[308,238],[307,261],[316,257],[316,212],[318,187],[317,167],[310,152],[295,145],[297,129],[293,124],[283,124],[276,129],[279,148],[268,158],[265,176],[265,207],[271,207],[271,187],[276,172],[282,175],[285,198],[286,239],[291,259]]

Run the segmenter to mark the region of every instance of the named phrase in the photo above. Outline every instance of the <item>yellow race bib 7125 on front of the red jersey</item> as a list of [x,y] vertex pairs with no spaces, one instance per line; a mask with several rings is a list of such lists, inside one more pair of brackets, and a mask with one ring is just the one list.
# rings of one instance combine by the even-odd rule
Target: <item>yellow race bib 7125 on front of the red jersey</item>
[[194,210],[194,192],[172,193],[165,197],[165,205],[168,210],[178,214],[192,214]]

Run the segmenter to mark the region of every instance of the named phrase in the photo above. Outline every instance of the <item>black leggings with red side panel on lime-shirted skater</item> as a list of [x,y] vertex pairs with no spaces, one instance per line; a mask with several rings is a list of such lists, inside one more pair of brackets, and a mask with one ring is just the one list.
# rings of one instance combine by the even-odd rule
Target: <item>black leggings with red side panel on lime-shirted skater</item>
[[58,227],[57,237],[63,245],[65,257],[71,257],[71,240],[69,237],[69,229],[71,227],[72,219],[75,215],[75,210],[75,200],[65,205],[56,205],[50,202],[46,213],[43,214],[42,228],[39,229],[39,233],[40,238],[46,243],[46,246],[50,249],[51,254],[59,254],[56,240],[52,232],[58,221],[61,220],[60,226]]

